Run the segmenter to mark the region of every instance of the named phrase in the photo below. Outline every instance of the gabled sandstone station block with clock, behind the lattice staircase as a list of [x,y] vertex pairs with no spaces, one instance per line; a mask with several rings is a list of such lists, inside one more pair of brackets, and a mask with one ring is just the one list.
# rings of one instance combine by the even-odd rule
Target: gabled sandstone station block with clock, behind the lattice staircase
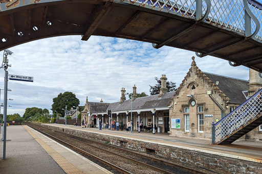
[[[192,57],[191,67],[169,103],[170,136],[211,139],[212,122],[218,122],[262,87],[258,72],[250,69],[249,74],[246,81],[202,72]],[[243,138],[262,139],[259,127]]]

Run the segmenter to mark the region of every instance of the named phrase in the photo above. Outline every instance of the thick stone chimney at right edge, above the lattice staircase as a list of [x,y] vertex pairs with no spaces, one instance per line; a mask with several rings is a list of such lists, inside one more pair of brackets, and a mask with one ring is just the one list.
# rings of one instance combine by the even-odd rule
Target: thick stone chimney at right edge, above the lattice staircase
[[258,72],[254,69],[249,68],[249,89],[248,96],[252,96],[254,93],[258,91],[258,89],[262,88],[261,78],[258,75]]

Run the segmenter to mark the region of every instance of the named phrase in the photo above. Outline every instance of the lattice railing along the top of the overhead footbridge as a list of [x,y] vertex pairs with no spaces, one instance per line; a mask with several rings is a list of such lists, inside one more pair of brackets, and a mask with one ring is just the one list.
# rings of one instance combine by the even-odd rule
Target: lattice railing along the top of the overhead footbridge
[[[114,0],[203,21],[262,42],[262,5],[255,0]],[[201,6],[200,6],[201,3]],[[202,9],[205,11],[202,14]],[[201,16],[201,18],[199,17]],[[185,33],[185,32],[183,32]],[[153,44],[159,48],[164,44]],[[200,56],[202,56],[200,54]]]

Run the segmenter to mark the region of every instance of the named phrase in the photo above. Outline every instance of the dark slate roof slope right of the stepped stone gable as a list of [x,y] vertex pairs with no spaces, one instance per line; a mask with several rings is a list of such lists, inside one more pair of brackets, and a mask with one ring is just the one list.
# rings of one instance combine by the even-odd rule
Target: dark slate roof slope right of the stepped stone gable
[[205,73],[214,84],[216,84],[216,81],[219,81],[219,84],[216,86],[230,98],[230,103],[242,104],[246,101],[246,97],[242,91],[248,90],[249,81],[219,76],[208,72],[203,73]]

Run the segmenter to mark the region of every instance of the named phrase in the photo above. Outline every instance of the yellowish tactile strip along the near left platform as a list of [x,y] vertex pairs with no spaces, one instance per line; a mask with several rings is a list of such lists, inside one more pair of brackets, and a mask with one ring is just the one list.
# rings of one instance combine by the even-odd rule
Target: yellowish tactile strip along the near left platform
[[23,126],[25,130],[40,144],[43,149],[55,160],[55,162],[64,170],[64,172],[69,174],[77,174],[82,172],[78,170],[73,164],[71,164],[67,159],[62,157],[59,153],[57,153],[52,147],[50,147],[47,143],[41,140],[37,135],[35,135],[32,131],[30,131],[26,126]]

